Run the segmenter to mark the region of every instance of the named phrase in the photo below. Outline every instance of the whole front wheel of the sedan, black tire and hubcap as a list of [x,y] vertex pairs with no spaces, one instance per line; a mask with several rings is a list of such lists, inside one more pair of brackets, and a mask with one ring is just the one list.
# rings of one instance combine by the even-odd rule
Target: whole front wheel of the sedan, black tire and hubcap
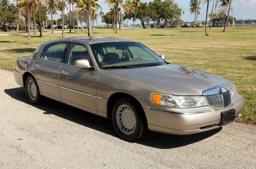
[[129,98],[119,99],[114,105],[112,122],[118,135],[129,142],[136,142],[144,131],[140,105]]

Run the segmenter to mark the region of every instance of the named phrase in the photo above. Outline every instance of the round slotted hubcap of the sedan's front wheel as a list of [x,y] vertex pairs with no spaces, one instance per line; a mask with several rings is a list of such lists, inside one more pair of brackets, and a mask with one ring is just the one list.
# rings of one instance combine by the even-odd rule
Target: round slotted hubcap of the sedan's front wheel
[[126,135],[134,132],[136,128],[136,116],[129,105],[122,104],[117,108],[116,123],[120,131]]

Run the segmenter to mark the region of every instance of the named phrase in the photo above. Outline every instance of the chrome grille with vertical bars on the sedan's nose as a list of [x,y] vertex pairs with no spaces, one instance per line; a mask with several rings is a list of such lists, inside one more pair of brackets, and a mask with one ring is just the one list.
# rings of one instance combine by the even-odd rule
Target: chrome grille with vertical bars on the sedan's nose
[[222,109],[231,103],[229,91],[216,95],[205,96],[208,105],[214,109]]

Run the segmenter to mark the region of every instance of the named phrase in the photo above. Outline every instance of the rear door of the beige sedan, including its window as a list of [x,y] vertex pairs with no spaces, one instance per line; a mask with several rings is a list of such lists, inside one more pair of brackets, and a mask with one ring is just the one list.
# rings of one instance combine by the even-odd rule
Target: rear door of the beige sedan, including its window
[[41,95],[60,98],[58,73],[69,42],[47,45],[33,65]]

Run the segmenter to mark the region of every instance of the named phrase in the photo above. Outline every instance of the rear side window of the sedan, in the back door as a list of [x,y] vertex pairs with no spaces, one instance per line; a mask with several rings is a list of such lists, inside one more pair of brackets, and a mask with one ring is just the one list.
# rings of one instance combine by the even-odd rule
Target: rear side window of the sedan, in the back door
[[53,61],[53,62],[63,62],[63,55],[68,43],[54,43],[48,45],[43,51],[40,56],[40,59]]

